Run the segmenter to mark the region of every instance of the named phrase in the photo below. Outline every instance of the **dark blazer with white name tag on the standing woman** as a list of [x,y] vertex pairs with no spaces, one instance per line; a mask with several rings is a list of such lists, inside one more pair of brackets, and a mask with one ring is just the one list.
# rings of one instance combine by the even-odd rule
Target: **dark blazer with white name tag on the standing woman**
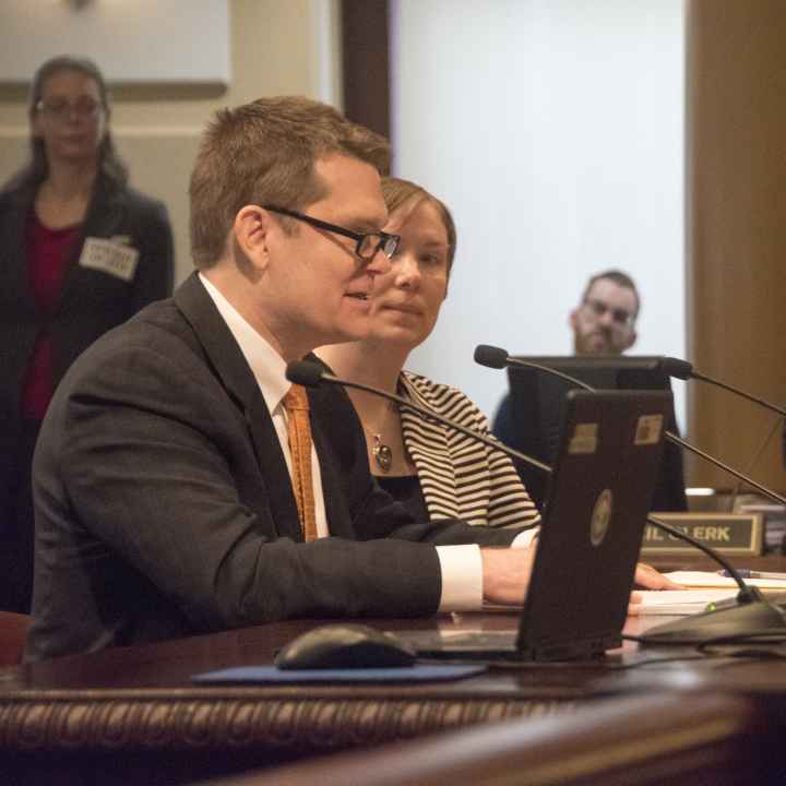
[[[17,439],[22,383],[39,331],[47,327],[53,338],[57,385],[99,335],[147,303],[168,297],[172,286],[172,238],[164,204],[130,188],[110,188],[99,177],[83,237],[67,263],[60,303],[55,314],[44,318],[29,287],[25,247],[34,196],[24,190],[0,194],[0,499]],[[80,265],[88,237],[127,238],[139,251],[133,278],[126,282]]]

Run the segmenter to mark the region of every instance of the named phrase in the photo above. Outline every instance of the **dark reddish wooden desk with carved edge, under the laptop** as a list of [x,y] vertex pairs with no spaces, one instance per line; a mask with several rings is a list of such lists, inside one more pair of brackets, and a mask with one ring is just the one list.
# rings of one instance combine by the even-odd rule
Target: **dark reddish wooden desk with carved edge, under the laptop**
[[[511,614],[372,620],[401,630],[510,628]],[[662,621],[659,618],[657,621]],[[630,620],[643,630],[650,620]],[[533,722],[629,695],[723,691],[779,711],[786,664],[682,658],[626,644],[603,663],[515,665],[439,684],[200,687],[190,676],[270,663],[317,624],[289,621],[0,670],[0,772],[186,783],[493,720]],[[786,705],[786,702],[784,702]],[[62,776],[58,775],[58,783]],[[159,779],[156,779],[159,778]],[[82,781],[74,781],[82,783]]]

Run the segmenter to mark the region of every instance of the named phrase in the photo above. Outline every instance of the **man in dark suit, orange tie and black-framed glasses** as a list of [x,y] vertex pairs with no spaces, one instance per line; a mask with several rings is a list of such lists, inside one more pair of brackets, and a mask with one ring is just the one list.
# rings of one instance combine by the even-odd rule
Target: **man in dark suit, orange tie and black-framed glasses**
[[44,422],[27,659],[523,599],[531,549],[476,545],[515,531],[414,521],[373,483],[346,393],[285,378],[370,327],[398,243],[388,164],[385,140],[305,98],[216,115],[195,273],[82,355]]

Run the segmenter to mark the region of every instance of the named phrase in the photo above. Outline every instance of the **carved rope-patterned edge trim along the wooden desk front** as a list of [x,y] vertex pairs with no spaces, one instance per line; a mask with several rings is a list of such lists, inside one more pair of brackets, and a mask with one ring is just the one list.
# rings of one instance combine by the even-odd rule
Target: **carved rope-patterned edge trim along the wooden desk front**
[[0,699],[3,751],[227,750],[326,752],[512,717],[576,702],[512,696],[348,698],[235,691],[23,691]]

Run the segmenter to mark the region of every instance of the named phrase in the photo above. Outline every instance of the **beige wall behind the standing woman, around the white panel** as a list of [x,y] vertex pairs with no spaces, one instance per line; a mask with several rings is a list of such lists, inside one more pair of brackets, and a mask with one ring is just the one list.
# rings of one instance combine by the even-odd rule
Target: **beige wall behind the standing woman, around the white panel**
[[[0,26],[3,22],[0,0]],[[17,0],[14,0],[16,3]],[[21,2],[21,0],[20,0]],[[200,0],[214,3],[214,0]],[[52,4],[53,0],[49,2]],[[35,13],[44,3],[36,0]],[[136,4],[126,0],[123,9],[133,14]],[[145,0],[140,11],[150,11]],[[179,23],[188,11],[184,0],[177,9],[158,3],[160,23]],[[91,7],[92,8],[92,7]],[[179,11],[175,16],[171,14]],[[306,95],[337,103],[341,96],[338,4],[336,0],[230,0],[229,22],[231,81],[226,90],[211,85],[176,84],[158,87],[142,85],[142,92],[115,90],[112,135],[120,155],[129,166],[131,183],[164,200],[169,209],[175,233],[176,283],[186,278],[193,265],[189,251],[188,183],[202,130],[213,112],[224,106],[238,106],[266,95]],[[33,13],[33,12],[31,12]],[[139,24],[139,20],[138,20]],[[199,46],[211,48],[216,41],[200,39]],[[36,49],[38,40],[20,46]],[[227,48],[218,41],[218,51]],[[192,47],[193,49],[193,47]],[[79,51],[71,38],[39,57],[61,51]],[[117,71],[110,57],[97,61],[107,73]],[[36,66],[39,63],[36,63]],[[29,80],[33,71],[27,74]],[[0,184],[27,159],[29,153],[26,85],[23,90],[8,84],[0,69]]]

